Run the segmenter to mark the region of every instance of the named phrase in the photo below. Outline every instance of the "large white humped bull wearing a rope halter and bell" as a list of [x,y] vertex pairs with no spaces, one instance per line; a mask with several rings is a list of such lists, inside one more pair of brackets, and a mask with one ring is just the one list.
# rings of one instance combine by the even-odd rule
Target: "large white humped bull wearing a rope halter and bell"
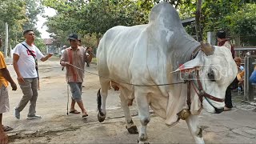
[[[97,58],[101,76],[98,120],[106,118],[112,80],[120,88],[126,128],[136,134],[128,107],[135,98],[141,122],[140,143],[147,142],[149,106],[169,126],[186,119],[195,142],[204,142],[198,114],[202,108],[210,113],[222,112],[226,88],[237,74],[230,50],[200,45],[186,34],[177,11],[168,2],[154,6],[149,24],[108,30],[98,46]],[[181,83],[184,78],[186,83]]]

